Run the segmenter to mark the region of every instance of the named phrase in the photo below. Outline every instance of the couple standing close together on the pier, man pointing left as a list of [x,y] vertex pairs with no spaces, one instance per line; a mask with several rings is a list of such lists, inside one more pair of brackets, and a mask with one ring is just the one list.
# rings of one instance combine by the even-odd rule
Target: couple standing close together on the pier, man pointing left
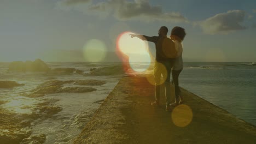
[[[183,44],[182,41],[186,35],[185,29],[182,27],[173,27],[171,31],[170,38],[171,40],[168,45],[164,44],[167,38],[168,28],[165,26],[160,27],[158,31],[158,36],[148,37],[146,35],[138,35],[131,34],[131,37],[137,37],[142,40],[147,40],[155,43],[156,49],[156,62],[154,65],[154,79],[155,79],[155,101],[151,103],[152,105],[159,106],[159,98],[160,98],[160,80],[161,75],[166,77],[165,79],[165,98],[166,98],[166,111],[171,111],[172,106],[176,106],[183,102],[183,97],[179,95],[181,90],[179,89],[179,74],[183,69],[183,60],[182,60],[182,52],[183,52]],[[171,47],[170,47],[171,46]],[[166,49],[175,50],[175,55],[170,56],[172,53],[167,53],[170,51],[166,51]],[[169,54],[169,55],[168,55]],[[161,68],[161,65],[164,65],[166,70]],[[167,73],[166,73],[167,71]],[[175,101],[171,104],[171,83],[170,77],[172,74],[172,84],[174,86],[175,93]]]

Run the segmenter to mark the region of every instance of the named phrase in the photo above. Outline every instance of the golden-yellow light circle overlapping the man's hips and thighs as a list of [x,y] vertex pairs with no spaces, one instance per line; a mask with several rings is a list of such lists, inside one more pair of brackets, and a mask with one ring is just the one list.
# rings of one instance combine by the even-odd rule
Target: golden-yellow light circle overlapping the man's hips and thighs
[[167,70],[164,64],[155,62],[152,75],[147,76],[147,80],[150,84],[159,86],[165,82],[167,78]]

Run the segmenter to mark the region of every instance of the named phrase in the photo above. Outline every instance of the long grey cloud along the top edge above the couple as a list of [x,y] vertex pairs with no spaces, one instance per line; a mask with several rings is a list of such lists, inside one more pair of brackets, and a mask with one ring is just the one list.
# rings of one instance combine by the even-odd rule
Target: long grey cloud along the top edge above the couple
[[[90,0],[67,0],[66,5],[76,3],[89,3]],[[82,11],[84,14],[97,14],[98,16],[113,15],[118,20],[139,19],[144,21],[167,21],[167,22],[188,22],[187,18],[178,12],[165,12],[159,5],[150,5],[148,0],[108,0],[90,3],[83,8],[74,7],[75,10]]]

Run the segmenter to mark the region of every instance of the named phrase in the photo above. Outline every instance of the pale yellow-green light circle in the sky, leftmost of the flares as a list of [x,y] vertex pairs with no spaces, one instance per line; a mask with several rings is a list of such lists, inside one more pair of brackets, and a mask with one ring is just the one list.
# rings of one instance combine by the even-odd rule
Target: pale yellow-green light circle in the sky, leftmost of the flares
[[106,57],[106,45],[97,39],[91,39],[84,45],[84,58],[89,62],[100,62]]

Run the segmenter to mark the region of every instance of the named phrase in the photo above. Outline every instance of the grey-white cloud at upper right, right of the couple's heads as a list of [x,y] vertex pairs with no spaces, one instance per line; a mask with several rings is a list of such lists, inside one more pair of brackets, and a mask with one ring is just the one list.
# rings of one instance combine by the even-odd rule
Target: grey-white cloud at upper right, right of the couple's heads
[[227,34],[232,31],[246,29],[241,25],[245,19],[245,11],[229,10],[227,13],[220,13],[204,21],[197,22],[206,34]]

